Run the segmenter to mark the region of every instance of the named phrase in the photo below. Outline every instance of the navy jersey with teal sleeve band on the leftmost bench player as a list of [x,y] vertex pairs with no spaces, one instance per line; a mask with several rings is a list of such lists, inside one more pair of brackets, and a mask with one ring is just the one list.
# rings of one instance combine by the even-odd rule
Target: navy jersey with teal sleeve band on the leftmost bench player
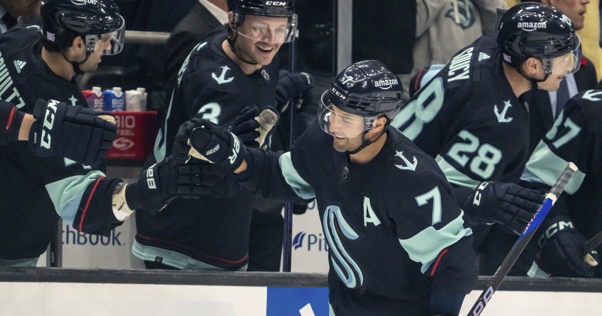
[[[42,60],[37,26],[0,37],[0,98],[32,113],[38,99],[87,107],[75,81]],[[120,225],[111,208],[119,179],[57,156],[40,158],[19,142],[0,147],[0,258],[34,258],[46,250],[58,216],[79,231],[108,236]]]

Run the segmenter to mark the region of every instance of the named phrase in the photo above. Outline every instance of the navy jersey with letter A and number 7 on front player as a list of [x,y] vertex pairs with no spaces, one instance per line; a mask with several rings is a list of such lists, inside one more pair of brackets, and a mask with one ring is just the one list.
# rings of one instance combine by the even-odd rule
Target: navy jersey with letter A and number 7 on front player
[[317,124],[291,152],[249,150],[253,167],[242,183],[250,190],[265,199],[315,197],[336,315],[423,315],[432,289],[468,292],[476,280],[471,230],[452,187],[433,158],[396,129],[387,133],[363,165],[350,164]]

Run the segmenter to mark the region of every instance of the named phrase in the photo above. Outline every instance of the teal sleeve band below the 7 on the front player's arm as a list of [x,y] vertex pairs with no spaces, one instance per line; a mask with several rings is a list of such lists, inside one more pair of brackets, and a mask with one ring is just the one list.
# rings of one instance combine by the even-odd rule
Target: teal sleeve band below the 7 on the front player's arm
[[462,215],[464,215],[464,211],[461,211],[458,217],[439,230],[429,226],[411,238],[399,240],[403,249],[408,252],[410,259],[423,264],[421,268],[423,273],[441,253],[441,250],[473,233],[470,228],[464,228]]

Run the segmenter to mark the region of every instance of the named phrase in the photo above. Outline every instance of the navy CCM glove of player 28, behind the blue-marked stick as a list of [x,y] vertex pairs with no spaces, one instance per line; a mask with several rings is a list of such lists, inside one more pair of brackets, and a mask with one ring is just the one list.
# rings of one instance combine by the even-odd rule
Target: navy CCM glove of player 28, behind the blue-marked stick
[[544,202],[538,191],[517,184],[486,181],[464,201],[464,211],[480,223],[498,223],[520,235]]

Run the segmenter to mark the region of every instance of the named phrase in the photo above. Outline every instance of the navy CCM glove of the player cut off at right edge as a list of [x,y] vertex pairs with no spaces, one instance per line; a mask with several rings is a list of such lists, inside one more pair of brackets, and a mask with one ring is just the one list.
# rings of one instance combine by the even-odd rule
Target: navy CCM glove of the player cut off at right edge
[[[538,240],[541,252],[537,256],[537,263],[542,270],[553,276],[594,277],[595,268],[583,261],[580,252],[587,242],[574,228],[571,218],[555,217]],[[600,262],[595,250],[589,254]]]

